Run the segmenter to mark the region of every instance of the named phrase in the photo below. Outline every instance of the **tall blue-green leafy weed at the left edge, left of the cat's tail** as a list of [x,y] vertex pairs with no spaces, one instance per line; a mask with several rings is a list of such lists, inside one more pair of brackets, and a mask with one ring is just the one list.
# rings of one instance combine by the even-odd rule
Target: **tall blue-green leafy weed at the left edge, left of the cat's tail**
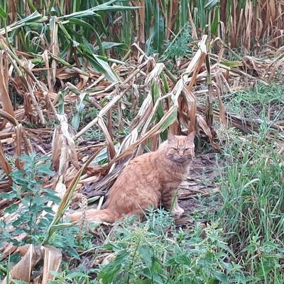
[[[53,190],[43,189],[42,186],[43,180],[53,175],[53,171],[50,170],[51,163],[45,163],[48,158],[39,158],[36,153],[31,153],[30,155],[23,155],[20,159],[25,162],[24,170],[11,173],[13,180],[12,192],[2,193],[1,197],[8,200],[21,200],[21,203],[13,202],[5,210],[7,213],[17,213],[17,217],[8,224],[1,220],[0,231],[2,234],[0,243],[3,240],[7,241],[7,239],[15,243],[13,236],[23,232],[30,236],[31,243],[38,243],[45,234],[45,229],[50,224],[54,213],[46,205],[46,202],[48,200],[60,201]],[[40,217],[43,212],[46,212],[46,214]],[[7,226],[13,226],[15,231],[10,234],[6,230]]]

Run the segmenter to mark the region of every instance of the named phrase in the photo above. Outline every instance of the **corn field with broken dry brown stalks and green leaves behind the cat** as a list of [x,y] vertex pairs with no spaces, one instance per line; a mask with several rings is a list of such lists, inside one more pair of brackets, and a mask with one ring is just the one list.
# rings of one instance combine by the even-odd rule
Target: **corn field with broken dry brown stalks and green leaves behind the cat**
[[260,125],[226,110],[223,95],[283,84],[280,0],[0,0],[0,16],[0,192],[24,170],[23,153],[48,157],[55,174],[44,187],[62,201],[44,242],[74,192],[105,194],[168,129],[219,150],[217,128]]

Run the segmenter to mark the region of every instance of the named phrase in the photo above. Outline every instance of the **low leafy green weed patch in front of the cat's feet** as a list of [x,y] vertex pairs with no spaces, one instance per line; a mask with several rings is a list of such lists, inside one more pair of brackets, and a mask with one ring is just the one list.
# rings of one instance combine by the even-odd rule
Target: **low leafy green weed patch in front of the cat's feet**
[[115,255],[97,271],[103,283],[246,283],[215,224],[202,239],[198,225],[192,234],[175,231],[169,213],[159,209],[142,224],[121,226],[116,241],[102,246]]

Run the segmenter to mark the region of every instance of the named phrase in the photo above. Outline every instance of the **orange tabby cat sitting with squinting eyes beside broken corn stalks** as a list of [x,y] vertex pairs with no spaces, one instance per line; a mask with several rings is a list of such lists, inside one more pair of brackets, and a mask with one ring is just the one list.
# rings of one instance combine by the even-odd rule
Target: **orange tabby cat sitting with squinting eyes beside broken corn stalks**
[[[182,180],[187,177],[195,155],[195,133],[188,136],[168,134],[168,141],[157,151],[146,153],[131,160],[122,171],[109,192],[107,208],[87,210],[87,221],[115,222],[123,215],[136,215],[143,219],[149,206],[158,208],[160,202],[170,210],[173,197]],[[173,215],[182,215],[184,210],[175,200]],[[67,214],[75,221],[82,212]]]

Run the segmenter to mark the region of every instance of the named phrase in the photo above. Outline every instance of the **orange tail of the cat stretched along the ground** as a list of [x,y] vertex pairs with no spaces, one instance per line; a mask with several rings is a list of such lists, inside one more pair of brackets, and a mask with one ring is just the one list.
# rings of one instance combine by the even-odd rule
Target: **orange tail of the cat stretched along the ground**
[[[82,218],[82,212],[67,213],[66,216],[72,221],[78,221]],[[114,223],[119,217],[112,213],[109,209],[88,209],[86,212],[86,221],[88,222],[107,222]]]

